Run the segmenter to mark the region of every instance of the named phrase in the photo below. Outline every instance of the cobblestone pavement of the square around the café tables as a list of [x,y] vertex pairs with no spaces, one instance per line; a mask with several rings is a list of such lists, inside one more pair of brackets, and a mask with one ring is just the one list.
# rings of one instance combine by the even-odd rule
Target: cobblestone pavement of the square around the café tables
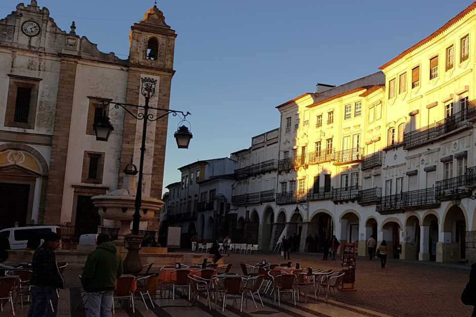
[[[258,263],[262,259],[268,262],[281,263],[281,257],[270,253],[242,255],[232,254],[224,257],[225,262],[232,263],[232,272],[241,273],[240,263]],[[302,267],[340,269],[340,261],[323,261],[320,255],[315,254],[291,254],[293,265],[299,262]],[[67,288],[60,292],[58,316],[85,316],[82,306],[74,310],[81,301],[81,288],[77,274],[80,268],[69,268],[65,271]],[[205,305],[205,301],[194,307],[186,307],[187,301],[179,298],[158,298],[155,300],[156,307],[146,310],[141,300],[136,300],[136,312],[130,308],[116,310],[115,316],[469,316],[471,307],[461,303],[460,295],[467,283],[469,270],[461,268],[442,267],[438,265],[425,265],[407,261],[389,260],[385,269],[380,268],[378,260],[358,258],[357,262],[357,289],[356,292],[339,293],[337,301],[329,303],[312,299],[305,304],[301,302],[293,306],[288,296],[284,297],[279,307],[269,298],[263,298],[264,307],[254,307],[248,300],[248,308],[240,313],[240,303],[233,305],[232,300],[224,312],[221,310],[221,301],[212,303],[212,311]],[[6,306],[6,305],[5,305]],[[1,316],[11,315],[8,307]],[[23,309],[17,306],[17,316],[27,315],[28,305]]]

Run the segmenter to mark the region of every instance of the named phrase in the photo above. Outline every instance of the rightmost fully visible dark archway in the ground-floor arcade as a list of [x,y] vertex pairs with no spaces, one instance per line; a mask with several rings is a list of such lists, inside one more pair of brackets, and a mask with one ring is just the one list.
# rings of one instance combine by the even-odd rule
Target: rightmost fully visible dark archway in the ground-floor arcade
[[452,206],[446,214],[443,224],[444,262],[464,261],[466,258],[466,221],[459,206]]

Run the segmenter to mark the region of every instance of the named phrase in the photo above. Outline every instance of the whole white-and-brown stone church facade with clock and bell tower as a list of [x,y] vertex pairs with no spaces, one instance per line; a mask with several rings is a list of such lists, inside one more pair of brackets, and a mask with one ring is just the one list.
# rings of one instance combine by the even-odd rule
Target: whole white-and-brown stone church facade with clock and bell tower
[[[169,108],[177,35],[156,6],[131,26],[127,60],[75,29],[61,30],[35,0],[0,20],[0,228],[71,224],[95,232],[104,223],[90,198],[120,188],[131,158],[138,165],[142,126],[102,101],[143,104],[141,78],[152,77],[151,105]],[[101,116],[114,127],[107,142],[93,130]],[[148,130],[144,193],[161,198],[167,117]]]

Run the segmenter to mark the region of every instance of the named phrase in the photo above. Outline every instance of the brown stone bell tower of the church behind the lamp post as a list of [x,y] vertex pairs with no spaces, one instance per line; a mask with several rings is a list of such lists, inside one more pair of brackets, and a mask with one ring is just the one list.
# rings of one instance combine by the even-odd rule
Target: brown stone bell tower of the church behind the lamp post
[[[140,94],[141,78],[152,77],[157,80],[157,86],[150,105],[169,109],[171,81],[175,73],[173,65],[176,37],[177,34],[167,25],[164,14],[157,6],[149,9],[143,20],[132,25],[129,35],[126,103],[136,105],[143,103],[143,97]],[[167,124],[168,118],[164,117],[149,122],[147,127],[144,193],[158,199],[162,198]],[[123,184],[124,173],[122,170],[124,166],[130,162],[131,157],[134,157],[137,162],[139,160],[137,154],[141,132],[137,133],[138,129],[142,129],[142,120],[136,120],[134,117],[126,115],[124,117],[118,188],[121,188]],[[152,229],[150,225],[149,229]]]

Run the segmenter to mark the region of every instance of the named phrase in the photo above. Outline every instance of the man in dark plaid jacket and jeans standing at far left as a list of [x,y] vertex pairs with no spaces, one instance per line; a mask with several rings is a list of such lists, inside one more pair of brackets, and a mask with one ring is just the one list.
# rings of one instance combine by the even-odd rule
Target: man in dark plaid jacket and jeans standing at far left
[[[56,263],[55,250],[58,248],[61,237],[50,232],[45,236],[45,242],[33,253],[31,267],[31,305],[28,317],[55,316],[58,310],[57,288],[64,288],[63,277]],[[54,313],[50,309],[52,302]]]

